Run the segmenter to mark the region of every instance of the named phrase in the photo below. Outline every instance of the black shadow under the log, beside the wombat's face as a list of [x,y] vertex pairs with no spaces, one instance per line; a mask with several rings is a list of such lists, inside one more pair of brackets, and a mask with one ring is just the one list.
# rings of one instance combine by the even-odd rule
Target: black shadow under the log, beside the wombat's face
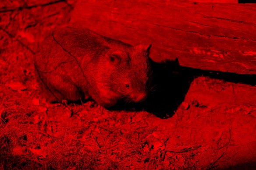
[[111,109],[127,109],[131,111],[148,111],[160,118],[169,118],[174,115],[178,106],[184,101],[190,83],[198,76],[207,76],[213,79],[224,80],[232,83],[256,85],[256,75],[242,75],[224,73],[212,70],[193,69],[182,67],[178,59],[174,62],[152,62],[153,78],[152,91],[143,103],[125,105],[123,102]]

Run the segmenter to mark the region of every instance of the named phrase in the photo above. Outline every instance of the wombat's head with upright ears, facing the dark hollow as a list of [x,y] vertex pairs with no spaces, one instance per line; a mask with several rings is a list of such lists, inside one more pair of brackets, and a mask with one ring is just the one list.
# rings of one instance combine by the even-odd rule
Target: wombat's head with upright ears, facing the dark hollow
[[150,47],[138,45],[125,51],[113,50],[107,53],[113,68],[110,88],[126,101],[140,102],[148,96],[151,81]]

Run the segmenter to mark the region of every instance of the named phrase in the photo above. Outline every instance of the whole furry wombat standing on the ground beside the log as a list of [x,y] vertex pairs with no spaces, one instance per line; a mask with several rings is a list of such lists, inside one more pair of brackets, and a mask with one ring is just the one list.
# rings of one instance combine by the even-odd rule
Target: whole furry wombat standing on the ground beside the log
[[132,46],[89,29],[59,28],[35,57],[39,85],[53,101],[91,97],[104,107],[140,102],[150,85],[151,45]]

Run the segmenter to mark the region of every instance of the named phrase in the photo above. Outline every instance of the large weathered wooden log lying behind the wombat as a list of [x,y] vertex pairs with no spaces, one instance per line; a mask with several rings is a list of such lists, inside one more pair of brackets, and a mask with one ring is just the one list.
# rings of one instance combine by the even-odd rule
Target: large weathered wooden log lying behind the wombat
[[71,25],[132,45],[153,43],[156,62],[178,58],[181,66],[256,74],[256,4],[202,2],[80,0]]

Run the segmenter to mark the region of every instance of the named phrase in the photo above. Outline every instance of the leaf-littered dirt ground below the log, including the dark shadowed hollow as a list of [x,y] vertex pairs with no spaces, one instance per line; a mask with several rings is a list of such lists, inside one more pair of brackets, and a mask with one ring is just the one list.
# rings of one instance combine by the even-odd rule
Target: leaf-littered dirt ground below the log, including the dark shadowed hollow
[[64,14],[42,17],[38,37],[0,29],[0,169],[255,169],[255,76],[163,64],[139,106],[42,98],[33,57],[50,28],[39,28],[66,23]]

